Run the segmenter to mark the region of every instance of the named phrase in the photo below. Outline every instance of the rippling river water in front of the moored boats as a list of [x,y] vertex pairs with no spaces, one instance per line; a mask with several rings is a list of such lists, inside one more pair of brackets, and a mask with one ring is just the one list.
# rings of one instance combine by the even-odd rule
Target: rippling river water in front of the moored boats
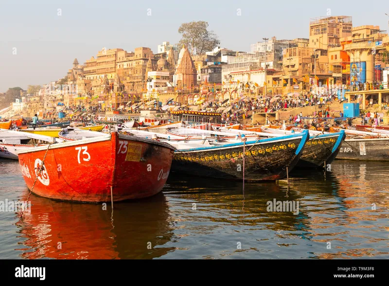
[[[389,258],[389,164],[335,161],[268,183],[171,174],[156,197],[82,204],[31,195],[0,212],[0,258]],[[0,160],[0,202],[26,200],[18,161]],[[292,201],[295,210],[269,209]]]

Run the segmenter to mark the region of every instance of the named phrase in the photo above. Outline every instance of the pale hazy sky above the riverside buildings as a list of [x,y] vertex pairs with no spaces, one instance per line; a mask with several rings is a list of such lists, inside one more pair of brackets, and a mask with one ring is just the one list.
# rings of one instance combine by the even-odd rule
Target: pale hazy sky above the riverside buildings
[[353,26],[388,30],[388,0],[0,0],[0,92],[58,80],[74,58],[83,64],[103,47],[156,53],[163,41],[179,41],[181,23],[194,20],[208,21],[222,47],[239,51],[263,37],[308,38],[310,18],[327,9],[352,16]]

